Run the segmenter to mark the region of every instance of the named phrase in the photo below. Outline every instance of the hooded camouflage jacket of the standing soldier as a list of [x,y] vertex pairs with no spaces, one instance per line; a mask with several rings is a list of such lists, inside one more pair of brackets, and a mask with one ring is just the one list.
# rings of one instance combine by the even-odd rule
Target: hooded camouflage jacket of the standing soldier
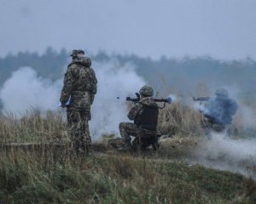
[[96,94],[96,75],[90,65],[86,64],[85,58],[73,61],[67,67],[64,77],[64,85],[61,90],[61,104],[68,105],[69,110],[88,111]]

